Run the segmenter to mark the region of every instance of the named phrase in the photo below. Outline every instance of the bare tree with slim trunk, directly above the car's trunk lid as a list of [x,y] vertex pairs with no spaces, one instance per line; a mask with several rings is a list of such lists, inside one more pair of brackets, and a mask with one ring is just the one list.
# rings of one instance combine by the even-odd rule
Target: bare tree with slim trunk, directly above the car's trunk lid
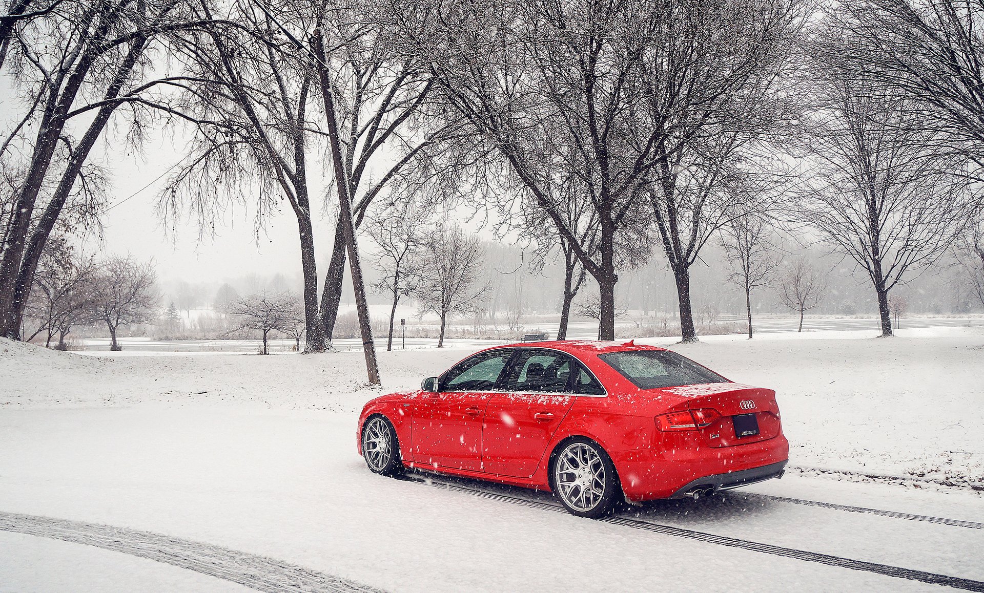
[[684,342],[698,339],[690,268],[701,250],[735,217],[766,211],[782,184],[765,155],[800,114],[790,75],[811,10],[796,1],[718,0],[664,13],[667,34],[644,71],[651,115],[643,125],[661,133],[646,195]]

